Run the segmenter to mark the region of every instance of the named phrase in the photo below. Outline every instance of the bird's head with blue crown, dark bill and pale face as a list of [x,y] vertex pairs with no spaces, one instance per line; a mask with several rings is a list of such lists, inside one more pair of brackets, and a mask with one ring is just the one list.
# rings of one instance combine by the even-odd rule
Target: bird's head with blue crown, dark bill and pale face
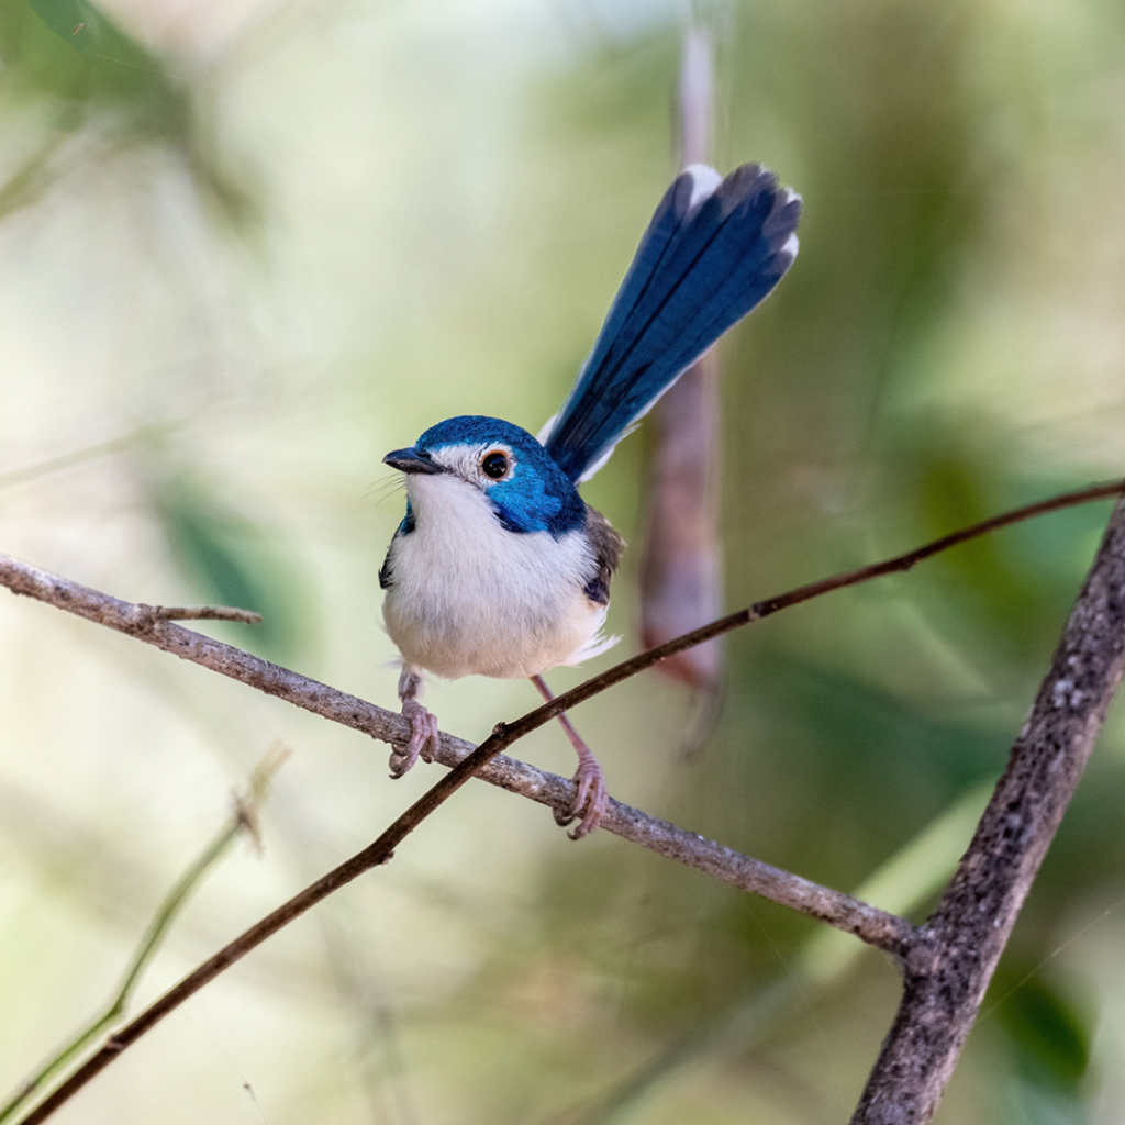
[[508,531],[562,536],[586,519],[577,489],[547,450],[526,430],[501,418],[447,418],[384,461],[406,474],[415,521],[426,519],[428,507],[436,512],[482,496]]

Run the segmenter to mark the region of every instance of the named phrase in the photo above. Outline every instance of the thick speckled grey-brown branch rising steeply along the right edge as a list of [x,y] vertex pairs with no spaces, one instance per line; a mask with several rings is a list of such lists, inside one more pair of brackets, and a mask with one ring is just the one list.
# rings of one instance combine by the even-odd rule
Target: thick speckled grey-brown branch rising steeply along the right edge
[[853,1125],[921,1125],[934,1115],[1123,669],[1119,502],[1008,768],[907,958],[902,1004]]

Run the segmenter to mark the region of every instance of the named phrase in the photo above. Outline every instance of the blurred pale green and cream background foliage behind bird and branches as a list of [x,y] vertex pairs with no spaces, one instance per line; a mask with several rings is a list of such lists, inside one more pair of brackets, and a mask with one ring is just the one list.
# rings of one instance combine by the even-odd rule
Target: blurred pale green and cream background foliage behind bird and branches
[[[722,349],[729,605],[1120,476],[1125,9],[696,15],[717,163],[760,160],[807,207],[796,267]],[[0,0],[0,548],[136,601],[259,610],[223,636],[393,704],[377,574],[402,496],[381,454],[451,414],[534,430],[555,411],[674,171],[686,16]],[[647,440],[586,489],[633,543],[620,655]],[[659,681],[576,720],[619,798],[843,889],[882,872],[872,898],[920,919],[1107,511],[736,634],[690,760],[691,700]],[[429,702],[480,738],[536,699],[487,681]],[[432,780],[393,785],[380,746],[10,597],[0,713],[12,1088],[104,1000],[273,740],[294,756],[264,855],[212,876],[144,996]],[[554,730],[521,750],[572,770]],[[1123,799],[1112,718],[939,1122],[1125,1119]],[[58,1119],[840,1122],[898,989],[839,942],[475,785]]]

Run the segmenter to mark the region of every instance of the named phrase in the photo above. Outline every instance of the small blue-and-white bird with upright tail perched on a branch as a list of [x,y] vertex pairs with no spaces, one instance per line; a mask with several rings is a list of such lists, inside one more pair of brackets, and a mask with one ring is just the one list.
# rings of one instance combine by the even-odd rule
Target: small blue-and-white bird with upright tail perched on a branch
[[[533,436],[501,418],[431,426],[384,461],[406,479],[406,515],[379,572],[387,632],[402,654],[411,739],[393,776],[438,748],[422,674],[528,677],[604,652],[610,580],[624,541],[578,495],[616,443],[796,256],[801,197],[759,164],[726,179],[687,168],[660,200],[562,408]],[[609,803],[597,758],[565,714],[578,755],[560,825],[597,827]]]

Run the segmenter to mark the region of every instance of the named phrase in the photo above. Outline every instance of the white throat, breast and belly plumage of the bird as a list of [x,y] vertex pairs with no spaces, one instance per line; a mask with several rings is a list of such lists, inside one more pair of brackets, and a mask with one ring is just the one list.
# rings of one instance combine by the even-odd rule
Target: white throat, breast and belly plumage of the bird
[[583,586],[596,564],[582,531],[505,530],[479,488],[452,474],[413,475],[417,516],[390,549],[382,606],[407,664],[438,676],[533,676],[596,656],[618,638]]

